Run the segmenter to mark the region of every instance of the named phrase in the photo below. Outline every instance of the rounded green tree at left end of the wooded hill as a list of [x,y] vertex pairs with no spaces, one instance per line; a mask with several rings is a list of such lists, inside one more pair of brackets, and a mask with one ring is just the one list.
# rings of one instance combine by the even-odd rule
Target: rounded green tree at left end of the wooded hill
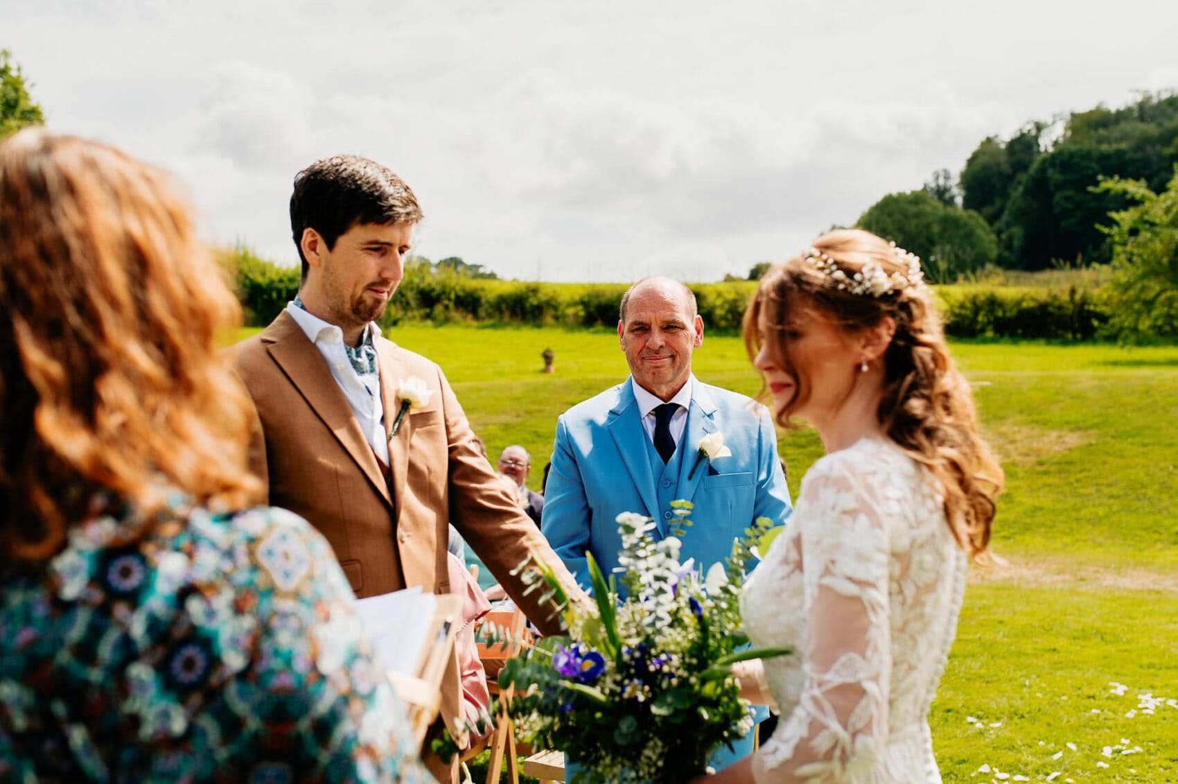
[[998,253],[994,232],[980,215],[942,204],[925,190],[888,193],[856,225],[920,256],[934,283],[974,272]]

